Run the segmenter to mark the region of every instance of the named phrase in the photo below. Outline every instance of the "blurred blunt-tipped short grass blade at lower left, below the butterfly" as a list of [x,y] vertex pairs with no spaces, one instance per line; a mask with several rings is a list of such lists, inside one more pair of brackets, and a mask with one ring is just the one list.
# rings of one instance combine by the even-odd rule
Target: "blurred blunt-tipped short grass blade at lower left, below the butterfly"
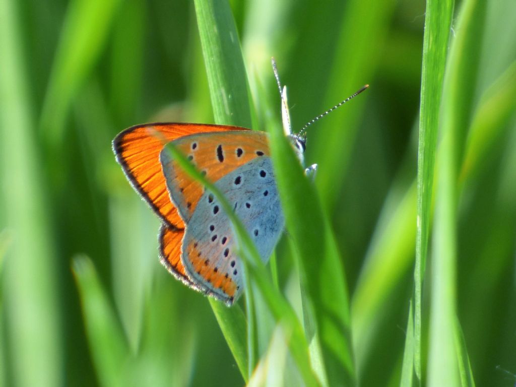
[[[124,385],[130,380],[126,372],[130,370],[130,349],[114,310],[109,304],[97,276],[93,263],[88,257],[73,259],[72,269],[82,301],[86,332],[89,338],[93,362],[103,386]],[[127,377],[127,378],[126,378]]]

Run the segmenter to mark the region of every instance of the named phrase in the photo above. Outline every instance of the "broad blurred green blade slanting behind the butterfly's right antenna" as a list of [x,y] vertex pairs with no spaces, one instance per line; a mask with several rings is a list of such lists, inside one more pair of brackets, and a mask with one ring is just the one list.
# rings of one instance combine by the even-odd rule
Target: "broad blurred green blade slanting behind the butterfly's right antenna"
[[[396,2],[392,0],[375,2],[374,6],[361,0],[347,2],[325,87],[326,95],[318,108],[320,111],[345,98],[343,90],[345,94],[350,94],[362,85],[373,82],[376,67],[381,62],[379,54],[383,39],[387,36],[386,30],[395,7]],[[314,67],[318,68],[320,62],[320,58],[315,58]],[[357,122],[366,99],[367,95],[363,94],[352,102],[352,106],[335,112],[331,119],[322,120],[314,130],[317,134],[313,132],[311,136],[313,149],[308,152],[313,152],[314,160],[320,165],[317,187],[323,205],[330,211],[338,199],[338,188],[346,177],[345,171],[358,133]]]

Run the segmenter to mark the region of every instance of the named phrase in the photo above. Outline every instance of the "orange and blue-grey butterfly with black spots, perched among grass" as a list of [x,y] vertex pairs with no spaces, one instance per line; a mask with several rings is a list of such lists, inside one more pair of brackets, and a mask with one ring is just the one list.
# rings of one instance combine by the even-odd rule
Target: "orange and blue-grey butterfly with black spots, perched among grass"
[[[280,86],[275,63],[273,68],[285,134],[302,163],[305,137],[291,131],[286,88]],[[127,180],[162,221],[160,262],[184,284],[230,306],[243,292],[231,222],[213,193],[174,161],[165,149],[170,141],[224,193],[266,263],[284,228],[269,137],[238,126],[150,123],[127,128],[112,141]]]

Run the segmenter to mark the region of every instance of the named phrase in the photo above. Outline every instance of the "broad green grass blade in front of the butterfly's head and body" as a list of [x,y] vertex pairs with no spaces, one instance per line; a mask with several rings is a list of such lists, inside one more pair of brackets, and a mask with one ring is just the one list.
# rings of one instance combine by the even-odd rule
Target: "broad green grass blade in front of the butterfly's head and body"
[[344,268],[314,185],[304,176],[291,143],[270,120],[270,149],[289,233],[300,259],[302,286],[314,313],[330,385],[354,385],[349,300]]

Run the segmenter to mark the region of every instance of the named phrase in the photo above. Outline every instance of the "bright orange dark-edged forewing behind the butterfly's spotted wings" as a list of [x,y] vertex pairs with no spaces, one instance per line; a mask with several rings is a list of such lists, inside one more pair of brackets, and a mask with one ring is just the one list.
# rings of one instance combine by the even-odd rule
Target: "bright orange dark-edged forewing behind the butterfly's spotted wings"
[[127,180],[131,182],[134,189],[170,228],[182,229],[183,220],[170,201],[165,176],[159,162],[159,152],[164,147],[163,138],[166,141],[172,141],[195,133],[232,130],[246,129],[210,124],[143,124],[132,126],[119,133],[113,140],[112,147],[117,162],[122,166]]

